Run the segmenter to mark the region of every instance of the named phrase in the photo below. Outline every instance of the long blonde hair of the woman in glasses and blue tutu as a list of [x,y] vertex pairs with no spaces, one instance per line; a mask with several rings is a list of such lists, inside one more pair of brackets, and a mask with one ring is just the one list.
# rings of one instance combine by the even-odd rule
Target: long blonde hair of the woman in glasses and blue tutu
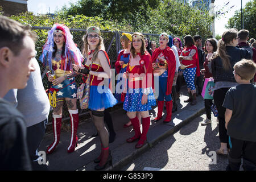
[[[87,41],[87,37],[88,37],[88,34],[84,35],[82,37],[82,41],[84,42],[84,47],[82,49],[82,55],[85,57],[88,57],[88,52],[89,52],[89,44],[88,44],[88,41]],[[93,57],[92,57],[92,60],[96,60],[97,57],[98,57],[98,51],[100,50],[104,50],[105,51],[105,46],[104,46],[104,43],[103,43],[103,39],[102,37],[99,35],[99,42],[98,42],[98,45],[95,49],[95,51],[93,52]]]

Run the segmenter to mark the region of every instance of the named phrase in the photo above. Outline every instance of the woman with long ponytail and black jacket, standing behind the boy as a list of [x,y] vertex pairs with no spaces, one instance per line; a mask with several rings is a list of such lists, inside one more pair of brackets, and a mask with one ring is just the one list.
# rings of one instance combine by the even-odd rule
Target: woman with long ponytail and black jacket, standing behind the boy
[[228,135],[225,128],[225,111],[222,106],[226,92],[232,86],[236,86],[237,82],[233,75],[233,67],[241,59],[251,59],[250,53],[246,49],[237,48],[238,31],[229,29],[222,34],[221,40],[218,42],[218,50],[213,55],[211,68],[214,78],[214,94],[213,101],[218,110],[218,130],[220,133],[221,146],[216,152],[221,155],[228,155]]

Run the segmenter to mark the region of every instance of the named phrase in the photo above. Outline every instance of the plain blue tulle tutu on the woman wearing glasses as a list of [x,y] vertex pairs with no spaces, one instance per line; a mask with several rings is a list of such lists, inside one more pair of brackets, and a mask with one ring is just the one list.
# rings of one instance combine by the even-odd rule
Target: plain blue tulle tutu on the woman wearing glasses
[[103,86],[90,86],[89,106],[90,110],[107,109],[117,104],[117,100],[109,88]]

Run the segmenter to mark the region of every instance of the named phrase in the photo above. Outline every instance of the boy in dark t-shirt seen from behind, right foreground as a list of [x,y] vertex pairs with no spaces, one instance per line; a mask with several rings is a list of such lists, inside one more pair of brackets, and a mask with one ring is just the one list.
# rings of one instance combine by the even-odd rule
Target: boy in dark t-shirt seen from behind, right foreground
[[243,158],[243,169],[256,169],[256,86],[250,84],[256,72],[252,60],[241,60],[234,65],[234,77],[239,85],[228,90],[223,103],[225,121],[232,148],[226,170],[238,171]]

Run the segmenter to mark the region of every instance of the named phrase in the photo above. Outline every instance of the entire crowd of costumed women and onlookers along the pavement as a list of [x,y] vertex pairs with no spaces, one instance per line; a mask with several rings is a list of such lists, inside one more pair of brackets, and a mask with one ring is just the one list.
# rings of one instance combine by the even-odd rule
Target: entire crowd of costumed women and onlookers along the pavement
[[80,52],[69,28],[56,23],[48,31],[39,59],[48,71],[48,96],[35,59],[34,32],[0,16],[0,36],[1,170],[47,169],[46,165],[38,164],[38,148],[51,107],[53,142],[46,152],[52,154],[56,150],[64,103],[71,120],[67,152],[76,150],[79,126],[77,75],[82,76],[80,84],[85,84],[84,102],[101,141],[100,155],[94,159],[96,170],[112,164],[114,158],[109,149],[109,143],[115,138],[109,113],[111,107],[123,104],[130,120],[123,127],[133,126],[134,131],[134,136],[126,142],[137,142],[135,148],[141,148],[147,140],[152,106],[158,107],[158,114],[152,122],[162,120],[164,104],[167,114],[163,123],[171,122],[172,113],[177,111],[176,102],[179,101],[183,79],[189,96],[184,102],[193,106],[197,104],[197,96],[208,92],[203,86],[207,78],[214,80],[214,93],[212,99],[204,99],[207,119],[201,125],[211,122],[214,103],[220,133],[220,148],[216,152],[228,155],[226,169],[239,170],[241,159],[244,169],[256,169],[256,105],[252,101],[256,97],[256,49],[253,48],[254,39],[250,40],[251,45],[247,43],[249,31],[230,29],[222,34],[221,40],[205,40],[204,47],[200,35],[186,35],[182,44],[180,38],[162,32],[157,47],[156,42],[150,42],[140,32],[123,33],[120,39],[123,49],[115,62],[118,79],[115,90],[112,90],[112,66],[100,28],[87,28]]

